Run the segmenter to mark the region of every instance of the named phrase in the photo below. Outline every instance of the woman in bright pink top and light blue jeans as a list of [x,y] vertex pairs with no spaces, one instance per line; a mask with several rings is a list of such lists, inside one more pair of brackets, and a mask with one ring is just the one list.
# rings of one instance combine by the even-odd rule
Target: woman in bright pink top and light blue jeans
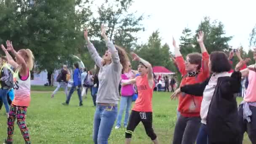
[[[133,74],[133,71],[131,70],[131,62],[128,61],[127,65],[124,68],[124,74],[121,75],[121,100],[120,100],[120,107],[119,112],[117,115],[117,124],[115,126],[115,129],[118,129],[121,127],[121,120],[123,116],[123,111],[125,110],[125,120],[123,126],[126,128],[128,124],[128,118],[129,118],[129,111],[131,109],[131,103],[132,103],[132,96],[134,94],[134,88],[132,84],[126,85],[124,82],[125,80],[129,80],[131,78],[134,78],[135,75]],[[126,107],[126,109],[125,109]]]

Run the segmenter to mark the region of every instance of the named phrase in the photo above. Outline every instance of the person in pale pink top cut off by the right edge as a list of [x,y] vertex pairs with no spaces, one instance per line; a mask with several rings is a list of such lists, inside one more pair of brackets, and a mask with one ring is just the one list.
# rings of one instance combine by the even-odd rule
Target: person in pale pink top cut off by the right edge
[[[253,59],[256,60],[256,49],[254,49]],[[243,144],[243,135],[245,131],[252,144],[256,144],[256,64],[248,66],[241,71],[242,77],[249,80],[246,94],[239,106],[239,126],[240,126],[240,144]]]

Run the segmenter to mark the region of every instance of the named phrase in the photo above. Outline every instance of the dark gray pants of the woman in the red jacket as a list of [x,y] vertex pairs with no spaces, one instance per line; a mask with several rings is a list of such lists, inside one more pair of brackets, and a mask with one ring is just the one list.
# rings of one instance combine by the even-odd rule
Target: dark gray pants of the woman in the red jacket
[[200,117],[184,117],[179,115],[175,125],[173,144],[195,144],[200,121]]

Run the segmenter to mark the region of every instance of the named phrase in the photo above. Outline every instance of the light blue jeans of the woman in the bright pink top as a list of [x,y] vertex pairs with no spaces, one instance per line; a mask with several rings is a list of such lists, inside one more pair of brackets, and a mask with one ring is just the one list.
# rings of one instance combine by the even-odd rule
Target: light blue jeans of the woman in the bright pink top
[[[128,125],[128,120],[129,120],[129,112],[131,109],[131,102],[132,102],[132,96],[122,96],[121,101],[120,101],[120,108],[119,112],[117,115],[117,126],[121,126],[121,120],[123,117],[123,111],[125,110],[125,120],[124,120],[124,125]],[[126,107],[126,109],[125,109]]]

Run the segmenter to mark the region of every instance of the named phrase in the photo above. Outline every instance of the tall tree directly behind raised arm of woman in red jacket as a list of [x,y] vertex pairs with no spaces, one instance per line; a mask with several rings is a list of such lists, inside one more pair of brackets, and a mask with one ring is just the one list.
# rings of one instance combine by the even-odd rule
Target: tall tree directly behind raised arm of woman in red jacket
[[[205,33],[205,47],[208,53],[212,51],[229,51],[228,42],[232,39],[231,36],[224,36],[226,32],[224,31],[224,25],[219,21],[214,20],[211,23],[209,17],[205,17],[203,21],[198,26],[196,33],[202,30]],[[200,51],[200,46],[197,43],[196,36],[194,36],[193,45],[195,45],[196,50]]]

